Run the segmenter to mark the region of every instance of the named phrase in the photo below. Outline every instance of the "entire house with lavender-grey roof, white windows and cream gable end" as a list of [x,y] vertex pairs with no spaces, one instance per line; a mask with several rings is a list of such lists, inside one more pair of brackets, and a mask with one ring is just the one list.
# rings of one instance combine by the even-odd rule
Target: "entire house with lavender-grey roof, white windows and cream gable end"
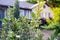
[[[14,0],[0,0],[0,19],[3,19],[5,16],[7,16],[6,12],[9,7],[14,6]],[[35,12],[35,8],[37,7],[37,4],[31,4],[28,2],[19,1],[19,7],[20,7],[20,15],[27,16],[28,19],[31,19],[31,12]],[[48,6],[45,4],[42,7],[44,10],[41,13],[41,18],[49,18],[52,17],[51,11],[49,10]],[[0,22],[1,24],[2,22]]]

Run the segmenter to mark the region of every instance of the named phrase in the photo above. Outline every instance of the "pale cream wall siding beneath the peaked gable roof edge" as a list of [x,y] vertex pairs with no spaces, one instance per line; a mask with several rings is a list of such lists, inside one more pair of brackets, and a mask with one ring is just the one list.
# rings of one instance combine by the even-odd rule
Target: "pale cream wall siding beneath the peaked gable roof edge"
[[[45,6],[45,7],[44,7]],[[36,13],[36,8],[33,8],[32,9],[32,12]],[[49,7],[45,4],[43,5],[43,7],[41,7],[40,9],[43,9],[41,14],[40,14],[40,17],[41,18],[49,18],[49,17],[53,17],[53,13],[51,12],[51,10],[49,9]]]

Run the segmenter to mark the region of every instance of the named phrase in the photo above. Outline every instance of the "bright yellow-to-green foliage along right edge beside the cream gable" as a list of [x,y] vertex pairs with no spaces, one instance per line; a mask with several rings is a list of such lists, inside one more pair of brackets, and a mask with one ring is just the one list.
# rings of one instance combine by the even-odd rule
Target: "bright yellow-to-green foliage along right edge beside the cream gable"
[[58,34],[60,33],[60,8],[52,8],[52,11],[54,13],[54,17],[52,20],[49,20],[48,26],[43,27],[44,29],[48,30],[54,30],[54,34],[51,36],[50,40],[53,40],[54,38],[58,37]]

